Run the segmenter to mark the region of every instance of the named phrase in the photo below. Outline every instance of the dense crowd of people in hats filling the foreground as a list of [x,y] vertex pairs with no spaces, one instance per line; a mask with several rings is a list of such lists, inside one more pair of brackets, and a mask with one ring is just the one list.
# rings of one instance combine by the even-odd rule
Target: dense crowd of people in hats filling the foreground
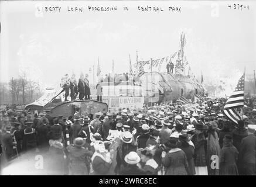
[[1,157],[45,151],[50,175],[252,175],[256,165],[255,99],[238,124],[226,99],[161,103],[68,118],[5,109]]

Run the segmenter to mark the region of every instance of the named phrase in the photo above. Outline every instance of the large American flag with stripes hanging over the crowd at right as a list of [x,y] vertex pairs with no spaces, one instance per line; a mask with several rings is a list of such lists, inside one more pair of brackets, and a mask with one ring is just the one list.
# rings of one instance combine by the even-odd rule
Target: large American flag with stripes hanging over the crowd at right
[[227,99],[226,105],[224,106],[224,114],[233,121],[237,123],[238,120],[241,120],[241,116],[237,111],[237,108],[244,107],[244,77],[245,74],[239,79],[235,91]]

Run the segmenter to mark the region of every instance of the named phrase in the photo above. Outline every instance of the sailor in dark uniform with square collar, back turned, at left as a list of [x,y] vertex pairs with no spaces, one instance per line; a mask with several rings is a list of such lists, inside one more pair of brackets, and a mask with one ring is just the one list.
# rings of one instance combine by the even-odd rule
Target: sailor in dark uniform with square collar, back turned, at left
[[23,131],[22,150],[27,151],[37,147],[37,132],[32,128],[33,122],[25,122],[25,129]]

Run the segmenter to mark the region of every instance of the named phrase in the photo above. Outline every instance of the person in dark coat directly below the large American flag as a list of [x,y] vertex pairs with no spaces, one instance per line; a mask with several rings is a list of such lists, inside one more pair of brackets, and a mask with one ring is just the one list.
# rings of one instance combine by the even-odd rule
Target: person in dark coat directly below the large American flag
[[232,132],[233,136],[233,145],[237,150],[240,149],[240,143],[244,137],[247,137],[248,132],[244,127],[244,122],[242,120],[238,121],[238,127],[237,129],[234,129]]

